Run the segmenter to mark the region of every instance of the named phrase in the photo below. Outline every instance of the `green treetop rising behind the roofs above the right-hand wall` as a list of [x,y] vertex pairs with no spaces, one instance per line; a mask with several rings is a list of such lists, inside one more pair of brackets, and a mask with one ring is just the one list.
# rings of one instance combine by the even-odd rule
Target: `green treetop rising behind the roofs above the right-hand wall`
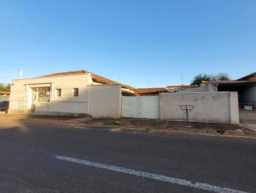
[[211,75],[207,73],[200,73],[196,75],[191,82],[191,85],[200,86],[202,81],[228,81],[230,80],[229,75],[227,73],[218,73],[216,75]]

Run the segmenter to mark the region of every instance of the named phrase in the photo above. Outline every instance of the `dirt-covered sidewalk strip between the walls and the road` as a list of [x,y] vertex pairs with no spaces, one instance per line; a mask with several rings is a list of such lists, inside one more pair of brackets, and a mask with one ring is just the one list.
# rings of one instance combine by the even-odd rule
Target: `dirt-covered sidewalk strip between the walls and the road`
[[196,134],[211,135],[236,135],[256,137],[256,130],[248,129],[245,125],[228,123],[202,123],[168,120],[146,120],[132,118],[75,118],[61,116],[36,116],[36,115],[15,115],[0,114],[0,121],[4,119],[16,119],[25,121],[36,121],[44,123],[61,123],[72,127],[113,127],[121,130],[137,130],[140,132],[188,132]]

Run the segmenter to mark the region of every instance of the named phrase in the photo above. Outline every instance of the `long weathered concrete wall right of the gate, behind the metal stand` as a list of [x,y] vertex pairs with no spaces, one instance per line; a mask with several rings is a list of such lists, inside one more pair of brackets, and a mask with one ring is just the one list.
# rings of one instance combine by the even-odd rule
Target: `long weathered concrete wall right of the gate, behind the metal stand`
[[189,121],[239,123],[237,92],[161,93],[161,120],[186,120],[179,105],[195,105]]

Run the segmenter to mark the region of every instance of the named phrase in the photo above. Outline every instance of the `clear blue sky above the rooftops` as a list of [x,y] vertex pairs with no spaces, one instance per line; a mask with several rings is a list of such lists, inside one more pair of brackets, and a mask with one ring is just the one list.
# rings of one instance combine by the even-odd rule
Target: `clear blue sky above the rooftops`
[[[256,1],[0,0],[0,57],[24,77],[88,70],[138,88],[256,71]],[[0,58],[0,82],[19,72]]]

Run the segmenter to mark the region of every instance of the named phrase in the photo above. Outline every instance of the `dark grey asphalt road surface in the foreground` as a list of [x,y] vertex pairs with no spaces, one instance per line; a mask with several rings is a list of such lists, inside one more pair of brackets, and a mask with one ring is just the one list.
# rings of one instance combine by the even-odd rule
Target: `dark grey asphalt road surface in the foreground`
[[211,192],[56,155],[256,192],[256,140],[0,120],[0,192]]

